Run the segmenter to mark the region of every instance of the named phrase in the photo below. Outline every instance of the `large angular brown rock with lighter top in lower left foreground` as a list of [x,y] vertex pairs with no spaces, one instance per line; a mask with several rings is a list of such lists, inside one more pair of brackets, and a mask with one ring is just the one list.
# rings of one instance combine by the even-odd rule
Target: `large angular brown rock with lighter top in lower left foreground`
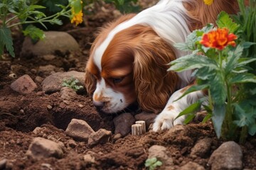
[[58,143],[51,140],[46,140],[42,137],[36,137],[28,147],[26,155],[33,159],[41,159],[43,157],[63,157],[63,150]]

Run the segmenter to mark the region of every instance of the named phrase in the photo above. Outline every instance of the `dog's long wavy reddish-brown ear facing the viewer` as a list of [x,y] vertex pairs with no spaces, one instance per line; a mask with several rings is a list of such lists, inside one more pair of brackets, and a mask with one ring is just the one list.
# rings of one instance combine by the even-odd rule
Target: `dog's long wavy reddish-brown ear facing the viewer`
[[178,76],[167,71],[172,60],[174,51],[154,31],[134,47],[134,86],[142,110],[158,113],[176,90]]

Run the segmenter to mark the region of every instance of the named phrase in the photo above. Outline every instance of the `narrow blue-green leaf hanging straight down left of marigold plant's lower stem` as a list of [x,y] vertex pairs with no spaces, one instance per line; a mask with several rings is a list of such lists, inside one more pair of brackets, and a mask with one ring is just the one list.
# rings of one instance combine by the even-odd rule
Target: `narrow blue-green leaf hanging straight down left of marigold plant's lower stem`
[[221,135],[221,128],[223,125],[224,118],[225,118],[225,105],[224,104],[214,105],[212,120],[213,120],[214,130],[218,138],[220,138],[220,135]]

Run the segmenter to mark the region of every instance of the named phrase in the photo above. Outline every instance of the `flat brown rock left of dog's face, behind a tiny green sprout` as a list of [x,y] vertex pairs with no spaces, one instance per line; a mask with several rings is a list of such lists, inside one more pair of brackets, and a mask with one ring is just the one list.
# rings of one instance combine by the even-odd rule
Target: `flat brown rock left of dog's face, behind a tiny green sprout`
[[63,80],[70,79],[71,77],[74,77],[75,79],[78,79],[80,81],[78,85],[84,86],[84,82],[85,82],[84,72],[76,72],[76,71],[56,72],[51,74],[49,77],[46,77],[46,79],[43,80],[42,82],[43,91],[45,91],[46,94],[60,91],[60,89],[63,88],[62,86]]

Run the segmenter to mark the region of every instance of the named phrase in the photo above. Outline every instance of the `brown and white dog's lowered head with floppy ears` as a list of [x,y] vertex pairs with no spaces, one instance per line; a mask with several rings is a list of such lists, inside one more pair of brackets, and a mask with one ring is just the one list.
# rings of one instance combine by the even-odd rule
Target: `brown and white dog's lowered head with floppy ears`
[[166,72],[174,50],[151,27],[118,30],[119,23],[132,17],[110,23],[92,44],[85,85],[95,106],[105,113],[122,111],[134,102],[144,111],[157,112],[178,84],[177,75]]

